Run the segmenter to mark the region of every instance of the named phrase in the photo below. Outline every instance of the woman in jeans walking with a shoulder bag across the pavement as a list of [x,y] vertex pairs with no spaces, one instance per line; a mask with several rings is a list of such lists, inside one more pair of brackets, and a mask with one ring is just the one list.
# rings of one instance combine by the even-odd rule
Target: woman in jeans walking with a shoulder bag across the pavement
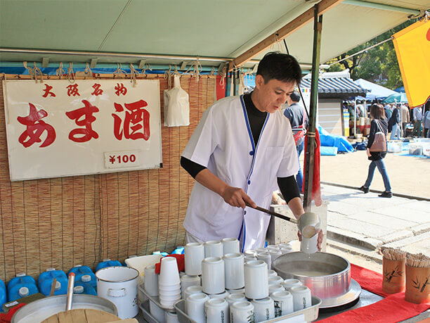
[[[385,151],[370,151],[370,147],[372,147],[372,144],[374,143],[377,132],[382,133],[382,135],[386,138],[388,124],[385,118],[384,107],[381,104],[372,104],[372,107],[370,108],[370,117],[372,118],[372,122],[370,123],[370,134],[369,140],[367,141],[367,157],[369,160],[372,160],[372,163],[369,165],[369,174],[367,175],[365,184],[360,187],[360,191],[365,193],[369,192],[374,169],[378,167],[378,170],[382,175],[382,179],[384,179],[385,186],[385,191],[382,194],[379,194],[379,196],[391,198],[393,194],[391,193],[390,179],[386,173],[384,161],[382,160],[386,156],[386,146]],[[378,134],[378,137],[380,136],[381,134]]]

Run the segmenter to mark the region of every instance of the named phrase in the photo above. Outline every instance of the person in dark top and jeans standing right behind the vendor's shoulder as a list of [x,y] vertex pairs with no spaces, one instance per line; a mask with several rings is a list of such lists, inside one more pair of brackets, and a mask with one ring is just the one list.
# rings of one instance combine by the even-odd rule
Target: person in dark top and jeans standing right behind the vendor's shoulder
[[[298,136],[298,132],[301,132],[300,138],[296,142],[297,158],[300,160],[300,154],[304,149],[304,134],[306,134],[306,129],[308,129],[308,118],[304,107],[299,104],[300,94],[294,91],[288,98],[288,108],[285,108],[284,115],[288,118],[291,124],[294,136]],[[301,166],[299,161],[299,172],[296,176],[297,185],[299,186],[299,191],[303,192],[303,173],[301,172]]]

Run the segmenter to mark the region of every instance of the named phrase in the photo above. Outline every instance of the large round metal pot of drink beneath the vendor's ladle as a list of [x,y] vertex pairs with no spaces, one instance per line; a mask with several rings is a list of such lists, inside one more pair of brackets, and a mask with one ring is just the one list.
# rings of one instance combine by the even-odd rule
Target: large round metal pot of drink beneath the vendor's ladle
[[273,269],[284,279],[299,279],[323,300],[322,307],[325,300],[327,307],[339,305],[333,300],[344,302],[340,298],[351,292],[351,265],[332,253],[287,253],[275,259]]

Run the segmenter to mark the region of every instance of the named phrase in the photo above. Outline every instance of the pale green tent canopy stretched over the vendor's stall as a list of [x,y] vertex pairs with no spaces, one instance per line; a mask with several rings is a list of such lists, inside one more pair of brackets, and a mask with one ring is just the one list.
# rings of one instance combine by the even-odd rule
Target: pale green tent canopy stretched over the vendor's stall
[[[336,5],[323,18],[321,62],[372,39],[430,8],[430,0],[323,0]],[[311,0],[0,0],[0,61],[57,63],[200,63],[236,58],[313,7]],[[311,67],[313,24],[286,37],[289,52]],[[7,49],[7,50],[6,50]],[[13,51],[21,49],[22,51]],[[42,49],[28,52],[27,50]],[[12,51],[11,51],[12,50]],[[283,42],[264,53],[285,52]],[[67,55],[63,51],[79,51]],[[89,52],[89,53],[88,53]],[[131,53],[112,57],[103,53]],[[162,54],[162,56],[159,56]],[[167,57],[170,56],[170,57]],[[191,57],[191,58],[190,58]],[[221,58],[209,59],[209,58]],[[7,62],[7,63],[5,63]]]

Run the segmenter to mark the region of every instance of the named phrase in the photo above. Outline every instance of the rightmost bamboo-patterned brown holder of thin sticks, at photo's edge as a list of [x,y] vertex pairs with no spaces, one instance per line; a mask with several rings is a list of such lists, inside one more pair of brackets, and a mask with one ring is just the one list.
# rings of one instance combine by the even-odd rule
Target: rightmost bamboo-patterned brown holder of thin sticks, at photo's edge
[[406,265],[405,300],[415,304],[430,302],[430,267]]

